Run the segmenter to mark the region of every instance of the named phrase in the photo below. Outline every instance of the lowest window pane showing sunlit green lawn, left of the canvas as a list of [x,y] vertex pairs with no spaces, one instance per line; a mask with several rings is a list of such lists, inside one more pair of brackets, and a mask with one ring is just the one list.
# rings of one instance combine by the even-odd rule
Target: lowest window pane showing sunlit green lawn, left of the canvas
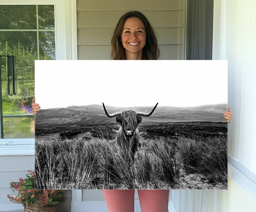
[[34,138],[34,116],[3,118],[5,138]]

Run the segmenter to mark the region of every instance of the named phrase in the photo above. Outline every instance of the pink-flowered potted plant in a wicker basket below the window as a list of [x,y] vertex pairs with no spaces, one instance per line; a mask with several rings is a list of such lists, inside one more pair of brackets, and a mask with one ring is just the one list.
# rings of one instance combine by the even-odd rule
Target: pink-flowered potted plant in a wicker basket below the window
[[59,204],[65,201],[64,190],[37,190],[34,188],[35,172],[28,172],[27,178],[10,183],[13,196],[7,194],[7,197],[14,203],[22,204],[24,212],[58,212]]

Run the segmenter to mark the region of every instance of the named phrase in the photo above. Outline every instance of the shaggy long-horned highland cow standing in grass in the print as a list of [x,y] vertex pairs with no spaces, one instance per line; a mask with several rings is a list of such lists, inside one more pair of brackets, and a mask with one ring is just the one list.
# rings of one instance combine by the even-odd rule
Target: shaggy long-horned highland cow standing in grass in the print
[[158,103],[149,113],[135,112],[133,110],[124,110],[122,112],[116,112],[108,114],[104,103],[103,108],[108,117],[116,117],[116,122],[121,125],[117,133],[117,144],[123,151],[124,155],[128,155],[134,160],[134,155],[138,150],[139,145],[139,131],[138,125],[142,121],[142,116],[150,116]]

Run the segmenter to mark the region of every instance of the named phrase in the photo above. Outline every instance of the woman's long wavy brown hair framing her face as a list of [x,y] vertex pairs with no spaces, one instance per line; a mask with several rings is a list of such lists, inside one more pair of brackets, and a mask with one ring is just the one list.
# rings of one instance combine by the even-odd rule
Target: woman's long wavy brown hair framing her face
[[123,31],[123,25],[128,18],[139,18],[142,20],[146,30],[146,44],[143,48],[142,59],[144,60],[154,60],[158,59],[160,51],[157,45],[157,39],[153,28],[151,27],[148,19],[139,11],[130,11],[125,13],[117,22],[116,28],[111,39],[111,58],[114,60],[124,60],[126,59],[124,47],[121,41],[121,34]]

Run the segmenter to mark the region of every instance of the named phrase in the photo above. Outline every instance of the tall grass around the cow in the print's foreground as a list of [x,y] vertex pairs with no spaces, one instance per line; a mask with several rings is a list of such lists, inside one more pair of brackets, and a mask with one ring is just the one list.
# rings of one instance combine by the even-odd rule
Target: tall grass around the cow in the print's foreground
[[116,139],[36,138],[36,188],[227,189],[226,136],[140,138],[134,160]]

